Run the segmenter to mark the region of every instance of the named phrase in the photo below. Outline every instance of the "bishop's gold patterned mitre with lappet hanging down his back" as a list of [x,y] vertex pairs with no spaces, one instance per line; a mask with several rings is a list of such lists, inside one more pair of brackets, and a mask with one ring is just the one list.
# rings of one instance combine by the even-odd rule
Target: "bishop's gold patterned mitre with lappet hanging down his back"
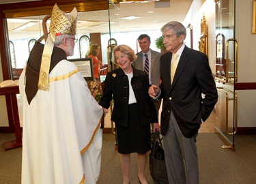
[[48,91],[49,71],[51,66],[51,55],[53,53],[54,42],[56,33],[75,35],[76,34],[76,19],[77,10],[76,7],[66,14],[59,9],[57,4],[53,7],[53,13],[51,16],[50,33],[44,45],[42,53],[42,61],[40,65],[40,74],[38,80],[38,89]]

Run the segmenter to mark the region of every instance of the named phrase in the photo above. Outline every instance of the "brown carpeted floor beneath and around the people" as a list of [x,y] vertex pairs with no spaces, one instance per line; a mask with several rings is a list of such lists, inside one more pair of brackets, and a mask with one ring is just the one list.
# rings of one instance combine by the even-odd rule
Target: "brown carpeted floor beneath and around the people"
[[[207,122],[205,122],[207,123]],[[22,148],[4,151],[3,142],[14,134],[0,134],[0,183],[20,184]],[[221,148],[216,134],[200,133],[197,138],[200,184],[253,184],[256,181],[256,136],[236,136],[236,151]],[[137,179],[136,155],[132,154],[130,181]],[[145,177],[153,184],[147,162]],[[115,150],[115,135],[103,134],[102,164],[98,184],[122,183],[119,154]]]

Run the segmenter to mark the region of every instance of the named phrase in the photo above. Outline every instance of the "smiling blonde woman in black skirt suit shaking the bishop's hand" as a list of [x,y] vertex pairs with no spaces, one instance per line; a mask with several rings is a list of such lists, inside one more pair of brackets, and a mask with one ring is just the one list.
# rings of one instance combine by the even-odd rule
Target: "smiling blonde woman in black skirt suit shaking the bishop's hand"
[[129,46],[115,47],[113,56],[112,60],[119,68],[106,74],[103,96],[99,104],[107,112],[113,95],[111,121],[115,122],[117,131],[123,183],[130,183],[130,153],[138,153],[139,181],[147,183],[144,170],[146,153],[151,148],[150,123],[154,123],[154,129],[160,128],[156,108],[148,94],[148,75],[132,67],[132,61],[137,56]]

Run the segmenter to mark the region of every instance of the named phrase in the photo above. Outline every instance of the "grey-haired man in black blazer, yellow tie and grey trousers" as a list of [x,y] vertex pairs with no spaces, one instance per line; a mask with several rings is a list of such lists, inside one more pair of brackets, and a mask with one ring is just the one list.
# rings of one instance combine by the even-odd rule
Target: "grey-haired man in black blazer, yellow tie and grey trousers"
[[160,58],[162,83],[159,87],[152,85],[149,93],[156,100],[163,98],[160,131],[168,180],[169,183],[197,184],[199,168],[195,140],[218,94],[208,57],[184,45],[186,28],[174,21],[164,25],[161,31],[163,44],[169,52]]

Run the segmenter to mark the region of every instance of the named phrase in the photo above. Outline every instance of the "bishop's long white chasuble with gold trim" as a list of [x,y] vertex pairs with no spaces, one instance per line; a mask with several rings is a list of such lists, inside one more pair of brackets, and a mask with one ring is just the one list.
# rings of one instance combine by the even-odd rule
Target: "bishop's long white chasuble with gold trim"
[[100,175],[102,108],[70,61],[49,74],[49,90],[38,90],[31,104],[20,76],[23,101],[22,183],[94,184]]

